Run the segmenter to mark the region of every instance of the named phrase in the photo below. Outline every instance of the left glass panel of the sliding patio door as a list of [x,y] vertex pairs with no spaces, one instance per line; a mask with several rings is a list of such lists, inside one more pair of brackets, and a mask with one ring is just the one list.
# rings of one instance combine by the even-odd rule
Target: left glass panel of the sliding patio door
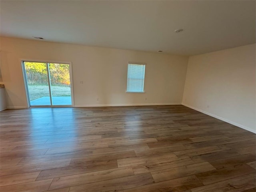
[[47,63],[24,62],[30,106],[50,106]]

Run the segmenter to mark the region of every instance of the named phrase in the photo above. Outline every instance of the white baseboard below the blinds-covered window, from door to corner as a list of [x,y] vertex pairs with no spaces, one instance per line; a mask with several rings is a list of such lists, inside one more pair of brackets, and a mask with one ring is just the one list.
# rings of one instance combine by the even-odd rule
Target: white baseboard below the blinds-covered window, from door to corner
[[181,103],[95,104],[95,105],[75,105],[74,107],[116,107],[116,106],[149,106],[149,105],[181,105]]

